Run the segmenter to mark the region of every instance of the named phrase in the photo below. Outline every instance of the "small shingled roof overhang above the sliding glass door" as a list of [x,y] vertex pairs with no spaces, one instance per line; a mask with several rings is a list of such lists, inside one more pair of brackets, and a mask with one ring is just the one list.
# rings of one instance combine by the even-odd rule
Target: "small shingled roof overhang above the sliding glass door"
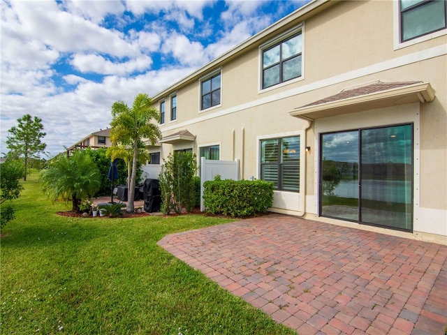
[[[293,117],[313,121],[315,119],[322,119],[323,117],[334,117],[342,114],[361,112],[362,110],[373,110],[376,108],[404,105],[406,103],[426,103],[433,101],[435,97],[430,82],[382,84],[386,89],[372,90],[371,93],[367,94],[363,92],[367,91],[366,88],[372,85],[346,90],[335,96],[324,98],[321,101],[295,108],[288,113]],[[393,87],[393,84],[395,87]],[[387,87],[393,88],[388,89]],[[348,97],[342,98],[343,96]]]

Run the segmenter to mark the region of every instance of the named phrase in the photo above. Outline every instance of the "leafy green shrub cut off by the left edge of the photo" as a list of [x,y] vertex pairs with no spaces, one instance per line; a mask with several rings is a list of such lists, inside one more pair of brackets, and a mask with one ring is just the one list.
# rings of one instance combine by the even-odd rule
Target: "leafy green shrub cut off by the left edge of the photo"
[[[0,230],[14,218],[14,208],[10,202],[19,198],[23,186],[20,179],[23,166],[20,161],[7,159],[1,164],[0,172]],[[7,203],[9,202],[9,203]]]

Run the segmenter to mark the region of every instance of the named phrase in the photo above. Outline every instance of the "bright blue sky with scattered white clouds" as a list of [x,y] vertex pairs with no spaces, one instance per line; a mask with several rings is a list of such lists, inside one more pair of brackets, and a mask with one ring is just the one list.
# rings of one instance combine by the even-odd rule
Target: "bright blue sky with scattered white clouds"
[[[1,154],[24,114],[54,156],[300,8],[289,1],[1,0]],[[3,156],[3,155],[2,155]]]

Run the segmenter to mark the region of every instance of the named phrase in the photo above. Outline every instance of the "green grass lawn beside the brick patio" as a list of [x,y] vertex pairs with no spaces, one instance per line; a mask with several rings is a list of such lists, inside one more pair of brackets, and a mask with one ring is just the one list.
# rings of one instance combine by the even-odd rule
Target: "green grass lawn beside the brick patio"
[[295,334],[156,245],[227,223],[69,218],[31,174],[1,237],[2,334]]

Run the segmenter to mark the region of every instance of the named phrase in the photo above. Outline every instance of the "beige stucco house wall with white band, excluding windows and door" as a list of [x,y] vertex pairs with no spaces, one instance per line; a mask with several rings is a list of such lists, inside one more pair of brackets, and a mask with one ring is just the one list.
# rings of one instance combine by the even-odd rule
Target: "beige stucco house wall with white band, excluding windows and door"
[[[409,234],[447,244],[446,29],[399,43],[397,3],[312,1],[307,6],[313,6],[312,10],[298,10],[273,24],[236,51],[228,52],[228,57],[212,61],[181,84],[154,97],[155,107],[162,100],[166,102],[166,122],[160,126],[163,137],[184,129],[196,137],[194,141],[149,147],[149,151],[160,151],[163,159],[176,149],[192,148],[198,154],[200,147],[219,144],[221,160],[240,159],[240,178],[260,178],[260,141],[299,135],[300,192],[275,191],[272,210],[339,223],[319,216],[320,135],[411,123],[413,228]],[[302,76],[261,89],[261,48],[299,27]],[[221,104],[200,111],[200,78],[214,70],[221,71]],[[289,114],[296,107],[379,80],[428,82],[436,97],[426,103],[366,106],[356,113],[314,121]],[[174,92],[177,120],[170,122],[170,94]],[[310,151],[305,151],[305,147],[310,147]]]

